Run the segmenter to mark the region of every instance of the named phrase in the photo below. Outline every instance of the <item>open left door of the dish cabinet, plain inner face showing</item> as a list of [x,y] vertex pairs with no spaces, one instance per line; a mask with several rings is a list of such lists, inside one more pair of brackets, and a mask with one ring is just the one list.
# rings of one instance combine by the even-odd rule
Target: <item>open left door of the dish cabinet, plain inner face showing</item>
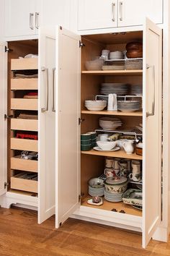
[[80,39],[62,27],[57,29],[56,228],[79,206]]

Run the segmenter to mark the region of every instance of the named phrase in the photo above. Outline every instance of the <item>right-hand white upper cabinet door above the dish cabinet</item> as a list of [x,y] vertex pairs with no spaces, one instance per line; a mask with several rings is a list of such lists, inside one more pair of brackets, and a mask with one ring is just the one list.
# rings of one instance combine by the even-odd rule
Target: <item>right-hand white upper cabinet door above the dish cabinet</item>
[[146,17],[163,22],[162,0],[118,0],[118,26],[143,25]]

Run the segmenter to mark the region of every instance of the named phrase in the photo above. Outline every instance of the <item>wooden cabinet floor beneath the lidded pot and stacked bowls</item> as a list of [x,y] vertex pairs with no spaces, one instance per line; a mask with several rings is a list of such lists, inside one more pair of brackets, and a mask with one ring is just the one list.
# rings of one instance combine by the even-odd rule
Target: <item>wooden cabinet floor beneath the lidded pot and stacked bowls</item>
[[103,205],[96,206],[96,205],[89,205],[87,203],[87,200],[90,198],[91,198],[90,196],[84,198],[81,201],[81,205],[88,206],[91,208],[97,208],[97,209],[101,209],[101,210],[112,210],[115,208],[117,210],[117,212],[120,212],[120,210],[124,210],[125,213],[127,213],[127,214],[142,217],[142,210],[135,209],[130,205],[126,205],[124,202],[108,202],[107,200],[104,200],[104,198],[103,198],[103,200],[104,200]]

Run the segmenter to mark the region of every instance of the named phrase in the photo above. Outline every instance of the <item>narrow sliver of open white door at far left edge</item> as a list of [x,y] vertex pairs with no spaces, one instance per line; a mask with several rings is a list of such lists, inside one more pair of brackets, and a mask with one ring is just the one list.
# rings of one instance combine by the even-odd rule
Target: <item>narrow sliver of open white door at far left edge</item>
[[0,196],[6,192],[7,186],[7,53],[6,43],[0,42]]

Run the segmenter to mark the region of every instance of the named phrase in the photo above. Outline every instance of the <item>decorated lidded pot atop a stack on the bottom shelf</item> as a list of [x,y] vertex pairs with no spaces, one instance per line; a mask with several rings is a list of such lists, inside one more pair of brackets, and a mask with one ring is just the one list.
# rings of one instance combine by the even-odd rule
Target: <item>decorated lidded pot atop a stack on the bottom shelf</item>
[[104,181],[105,190],[111,194],[122,194],[128,187],[128,179],[125,177],[109,177]]

